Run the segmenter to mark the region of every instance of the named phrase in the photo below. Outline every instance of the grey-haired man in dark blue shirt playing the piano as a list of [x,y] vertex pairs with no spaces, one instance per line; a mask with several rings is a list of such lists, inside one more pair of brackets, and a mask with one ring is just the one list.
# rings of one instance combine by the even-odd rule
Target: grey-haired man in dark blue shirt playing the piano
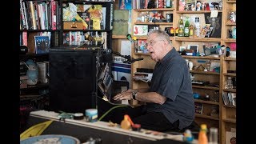
[[[142,114],[130,116],[134,123],[149,130],[182,130],[194,121],[194,99],[186,61],[171,45],[162,30],[150,31],[146,49],[157,62],[149,89],[127,90],[114,100],[146,102]],[[129,114],[129,113],[128,113]]]

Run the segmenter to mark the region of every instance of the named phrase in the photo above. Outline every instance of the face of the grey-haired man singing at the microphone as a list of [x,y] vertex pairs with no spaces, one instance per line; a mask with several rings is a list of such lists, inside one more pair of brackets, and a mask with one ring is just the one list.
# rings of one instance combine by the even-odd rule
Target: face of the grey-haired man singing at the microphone
[[158,62],[163,58],[164,40],[157,38],[156,34],[150,34],[147,38],[146,49],[149,51],[151,59]]

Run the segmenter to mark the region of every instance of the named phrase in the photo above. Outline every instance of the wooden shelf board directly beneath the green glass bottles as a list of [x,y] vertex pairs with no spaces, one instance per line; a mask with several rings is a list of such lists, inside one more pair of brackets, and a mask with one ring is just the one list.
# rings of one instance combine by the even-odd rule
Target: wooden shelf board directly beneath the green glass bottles
[[190,38],[190,37],[178,37],[175,36],[176,41],[186,42],[221,42],[221,38]]

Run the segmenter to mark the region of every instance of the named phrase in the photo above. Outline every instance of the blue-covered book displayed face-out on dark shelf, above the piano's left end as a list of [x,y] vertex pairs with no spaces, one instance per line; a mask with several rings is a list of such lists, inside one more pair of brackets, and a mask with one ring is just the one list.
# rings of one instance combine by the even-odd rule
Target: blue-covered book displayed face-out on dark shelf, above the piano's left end
[[34,36],[35,54],[49,53],[50,38],[49,36]]

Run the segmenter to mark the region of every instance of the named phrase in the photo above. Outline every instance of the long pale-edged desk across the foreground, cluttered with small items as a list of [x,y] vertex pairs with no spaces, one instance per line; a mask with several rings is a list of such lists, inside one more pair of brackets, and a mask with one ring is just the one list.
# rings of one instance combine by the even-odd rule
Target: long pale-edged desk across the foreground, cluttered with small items
[[[65,134],[86,142],[88,138],[101,138],[102,143],[184,143],[182,135],[161,133],[153,130],[124,130],[120,126],[109,126],[108,122],[86,122],[86,119],[74,120],[66,118],[59,121],[58,113],[46,110],[30,112],[26,128],[41,122],[53,120],[42,134]],[[194,140],[193,143],[197,143]]]

